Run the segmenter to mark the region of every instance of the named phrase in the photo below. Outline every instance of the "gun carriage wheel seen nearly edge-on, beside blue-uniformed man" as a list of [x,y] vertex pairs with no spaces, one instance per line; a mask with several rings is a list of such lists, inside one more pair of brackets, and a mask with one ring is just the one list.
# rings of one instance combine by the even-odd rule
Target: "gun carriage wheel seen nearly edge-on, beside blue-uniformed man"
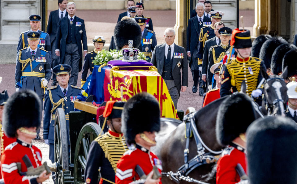
[[69,156],[68,156],[68,136],[65,113],[62,108],[56,110],[55,133],[54,133],[54,152],[55,152],[55,183],[63,184],[71,175],[69,172]]

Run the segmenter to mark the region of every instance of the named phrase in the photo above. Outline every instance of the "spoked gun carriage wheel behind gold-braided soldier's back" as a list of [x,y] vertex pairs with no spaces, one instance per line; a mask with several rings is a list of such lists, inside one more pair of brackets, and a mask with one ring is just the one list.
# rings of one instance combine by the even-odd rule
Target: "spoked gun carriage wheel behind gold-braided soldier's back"
[[91,142],[98,137],[100,132],[101,127],[92,122],[85,124],[80,130],[75,146],[74,183],[85,183],[84,170],[87,164],[89,148]]

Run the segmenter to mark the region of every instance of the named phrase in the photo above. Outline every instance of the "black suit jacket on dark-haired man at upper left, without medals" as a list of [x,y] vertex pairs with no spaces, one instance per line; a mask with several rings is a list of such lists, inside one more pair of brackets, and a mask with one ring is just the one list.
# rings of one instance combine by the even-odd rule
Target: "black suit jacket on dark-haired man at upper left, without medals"
[[[68,16],[68,12],[66,11],[65,17],[67,16]],[[51,44],[56,38],[59,20],[60,20],[59,10],[51,11],[49,13],[49,22],[47,23],[46,32],[49,33]]]

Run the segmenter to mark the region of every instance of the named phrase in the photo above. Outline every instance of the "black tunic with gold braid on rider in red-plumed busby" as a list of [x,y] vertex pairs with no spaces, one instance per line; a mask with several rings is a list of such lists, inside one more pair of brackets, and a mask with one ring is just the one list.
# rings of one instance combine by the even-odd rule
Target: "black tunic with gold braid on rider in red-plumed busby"
[[266,71],[263,62],[256,57],[241,59],[236,57],[223,65],[221,75],[221,97],[230,95],[232,92],[240,91],[241,83],[246,84],[246,94],[251,95],[262,79],[261,67]]

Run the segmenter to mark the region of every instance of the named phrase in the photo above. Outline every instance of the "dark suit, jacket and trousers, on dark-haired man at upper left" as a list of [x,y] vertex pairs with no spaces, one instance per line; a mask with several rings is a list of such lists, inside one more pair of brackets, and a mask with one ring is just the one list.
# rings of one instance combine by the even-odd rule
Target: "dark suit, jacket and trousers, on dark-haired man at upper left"
[[[63,13],[64,14],[64,13]],[[66,17],[68,16],[68,12],[65,13]],[[49,33],[50,37],[50,44],[52,47],[52,68],[54,68],[56,65],[60,64],[60,57],[58,57],[55,53],[56,49],[56,35],[57,35],[57,29],[59,24],[59,10],[51,11],[49,13],[49,22],[46,27],[47,33]],[[53,74],[53,80],[56,80],[56,75]]]

